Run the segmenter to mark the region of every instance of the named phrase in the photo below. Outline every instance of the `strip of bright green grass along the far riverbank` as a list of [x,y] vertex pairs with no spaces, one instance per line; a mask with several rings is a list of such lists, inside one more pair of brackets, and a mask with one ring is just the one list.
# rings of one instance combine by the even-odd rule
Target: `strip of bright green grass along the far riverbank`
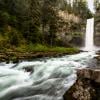
[[58,52],[58,53],[74,53],[78,52],[77,48],[50,47],[41,44],[22,45],[16,48],[19,52]]

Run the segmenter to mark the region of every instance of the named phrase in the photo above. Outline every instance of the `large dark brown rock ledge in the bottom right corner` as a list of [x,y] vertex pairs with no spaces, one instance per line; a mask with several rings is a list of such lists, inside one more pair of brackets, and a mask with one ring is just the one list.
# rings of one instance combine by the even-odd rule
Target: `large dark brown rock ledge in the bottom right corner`
[[76,83],[64,94],[64,100],[100,100],[100,69],[77,71]]

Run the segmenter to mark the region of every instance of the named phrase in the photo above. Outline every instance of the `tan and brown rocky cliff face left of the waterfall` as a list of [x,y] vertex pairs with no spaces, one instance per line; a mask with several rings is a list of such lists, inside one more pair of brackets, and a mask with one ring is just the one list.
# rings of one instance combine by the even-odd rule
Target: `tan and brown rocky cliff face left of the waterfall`
[[[60,26],[57,33],[58,39],[63,43],[70,43],[76,46],[82,46],[84,42],[84,29],[85,21],[82,23],[82,18],[74,13],[68,13],[67,11],[59,11]],[[83,25],[84,24],[84,25]]]

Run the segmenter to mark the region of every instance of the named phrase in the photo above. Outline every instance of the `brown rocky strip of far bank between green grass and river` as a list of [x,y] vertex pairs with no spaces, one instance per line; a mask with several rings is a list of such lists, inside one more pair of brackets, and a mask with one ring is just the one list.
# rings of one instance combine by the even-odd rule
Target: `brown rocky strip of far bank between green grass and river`
[[32,60],[35,58],[43,58],[43,57],[58,57],[66,54],[75,54],[79,53],[79,50],[76,51],[66,51],[66,52],[56,52],[56,51],[37,51],[37,52],[17,52],[17,51],[9,51],[9,52],[0,52],[0,61],[1,62],[9,62],[13,61],[14,63],[19,60]]

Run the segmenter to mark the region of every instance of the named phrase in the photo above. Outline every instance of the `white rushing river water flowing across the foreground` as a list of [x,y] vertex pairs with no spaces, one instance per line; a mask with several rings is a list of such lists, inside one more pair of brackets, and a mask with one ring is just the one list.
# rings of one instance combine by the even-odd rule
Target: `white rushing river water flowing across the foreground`
[[[76,69],[87,67],[94,52],[57,58],[0,63],[0,100],[63,100],[76,81]],[[31,69],[26,72],[25,69]]]

